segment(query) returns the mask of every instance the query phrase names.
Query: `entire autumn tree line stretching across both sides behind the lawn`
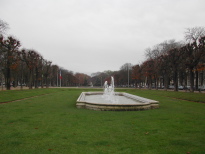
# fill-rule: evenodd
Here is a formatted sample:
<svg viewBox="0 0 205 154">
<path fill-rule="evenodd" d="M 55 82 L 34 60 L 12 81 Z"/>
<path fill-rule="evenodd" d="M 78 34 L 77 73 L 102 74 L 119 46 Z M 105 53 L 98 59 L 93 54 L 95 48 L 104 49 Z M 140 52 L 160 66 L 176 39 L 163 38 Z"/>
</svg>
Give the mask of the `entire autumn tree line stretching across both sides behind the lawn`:
<svg viewBox="0 0 205 154">
<path fill-rule="evenodd" d="M 116 87 L 189 88 L 205 85 L 205 28 L 188 28 L 184 42 L 168 40 L 145 50 L 146 60 L 141 64 L 125 63 L 118 71 L 96 72 L 91 76 L 73 73 L 53 65 L 34 49 L 20 49 L 21 42 L 5 37 L 8 24 L 0 20 L 0 83 L 11 86 L 103 86 L 114 76 Z"/>
</svg>

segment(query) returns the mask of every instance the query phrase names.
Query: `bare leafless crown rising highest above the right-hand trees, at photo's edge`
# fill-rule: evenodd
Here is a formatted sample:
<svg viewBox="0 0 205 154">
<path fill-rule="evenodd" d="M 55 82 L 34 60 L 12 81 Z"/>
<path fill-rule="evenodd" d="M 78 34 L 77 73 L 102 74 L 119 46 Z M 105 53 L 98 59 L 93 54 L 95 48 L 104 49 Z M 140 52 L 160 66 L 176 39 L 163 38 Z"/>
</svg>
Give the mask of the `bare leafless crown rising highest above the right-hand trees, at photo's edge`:
<svg viewBox="0 0 205 154">
<path fill-rule="evenodd" d="M 193 27 L 186 29 L 184 38 L 191 43 L 203 36 L 205 36 L 205 27 Z"/>
</svg>

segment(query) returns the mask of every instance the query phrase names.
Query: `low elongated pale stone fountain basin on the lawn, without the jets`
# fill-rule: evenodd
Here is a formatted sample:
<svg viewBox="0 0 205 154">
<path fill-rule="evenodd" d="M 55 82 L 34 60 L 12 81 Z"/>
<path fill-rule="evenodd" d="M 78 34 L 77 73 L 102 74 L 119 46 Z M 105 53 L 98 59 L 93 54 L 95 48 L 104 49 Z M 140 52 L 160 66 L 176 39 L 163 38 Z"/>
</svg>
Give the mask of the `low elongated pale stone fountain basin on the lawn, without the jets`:
<svg viewBox="0 0 205 154">
<path fill-rule="evenodd" d="M 115 102 L 103 98 L 103 92 L 82 92 L 76 107 L 98 111 L 138 111 L 159 108 L 159 102 L 136 95 L 115 92 Z"/>
</svg>

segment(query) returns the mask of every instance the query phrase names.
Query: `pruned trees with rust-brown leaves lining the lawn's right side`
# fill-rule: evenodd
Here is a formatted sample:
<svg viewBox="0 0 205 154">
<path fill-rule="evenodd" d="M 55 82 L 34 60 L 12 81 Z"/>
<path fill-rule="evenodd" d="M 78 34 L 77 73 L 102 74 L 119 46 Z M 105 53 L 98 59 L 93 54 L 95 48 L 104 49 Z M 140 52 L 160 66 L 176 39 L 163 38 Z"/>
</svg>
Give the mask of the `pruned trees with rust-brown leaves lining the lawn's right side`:
<svg viewBox="0 0 205 154">
<path fill-rule="evenodd" d="M 199 83 L 204 84 L 205 37 L 186 45 L 164 42 L 147 50 L 147 56 L 149 58 L 141 65 L 133 67 L 132 77 L 139 87 L 147 83 L 149 88 L 163 86 L 168 89 L 173 83 L 175 91 L 178 91 L 180 84 L 190 86 L 193 92 L 198 90 Z"/>
</svg>

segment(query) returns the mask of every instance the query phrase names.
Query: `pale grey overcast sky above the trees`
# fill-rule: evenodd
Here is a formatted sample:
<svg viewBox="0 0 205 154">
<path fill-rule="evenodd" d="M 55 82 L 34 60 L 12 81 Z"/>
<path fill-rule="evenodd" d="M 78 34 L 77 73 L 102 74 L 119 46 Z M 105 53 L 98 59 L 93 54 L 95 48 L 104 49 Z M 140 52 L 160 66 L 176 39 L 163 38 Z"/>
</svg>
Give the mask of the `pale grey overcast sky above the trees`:
<svg viewBox="0 0 205 154">
<path fill-rule="evenodd" d="M 140 64 L 148 47 L 205 26 L 205 0 L 0 0 L 0 19 L 22 47 L 91 74 Z"/>
</svg>

